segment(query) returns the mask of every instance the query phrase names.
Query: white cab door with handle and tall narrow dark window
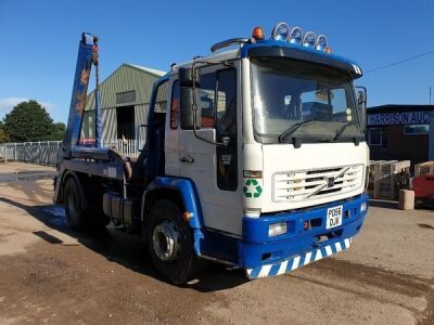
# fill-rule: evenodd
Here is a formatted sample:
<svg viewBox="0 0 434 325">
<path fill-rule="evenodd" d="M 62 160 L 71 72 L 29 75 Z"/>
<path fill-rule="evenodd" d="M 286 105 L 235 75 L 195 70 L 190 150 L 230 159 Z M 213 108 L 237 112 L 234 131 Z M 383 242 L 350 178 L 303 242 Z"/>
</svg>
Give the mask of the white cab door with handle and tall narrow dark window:
<svg viewBox="0 0 434 325">
<path fill-rule="evenodd" d="M 194 182 L 206 227 L 241 235 L 239 64 L 205 67 L 200 73 L 201 127 L 197 133 L 227 145 L 209 144 L 197 139 L 192 130 L 181 128 L 180 176 Z"/>
</svg>

